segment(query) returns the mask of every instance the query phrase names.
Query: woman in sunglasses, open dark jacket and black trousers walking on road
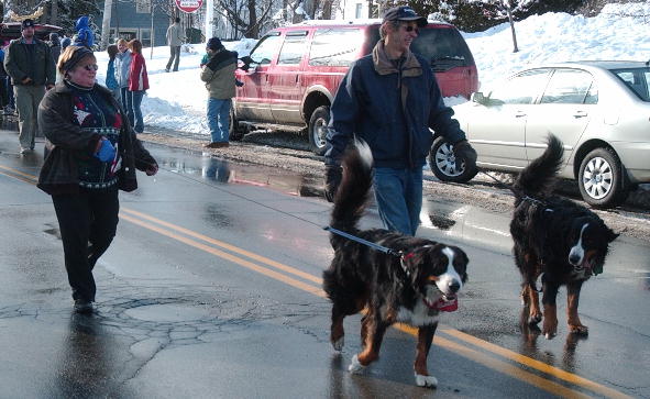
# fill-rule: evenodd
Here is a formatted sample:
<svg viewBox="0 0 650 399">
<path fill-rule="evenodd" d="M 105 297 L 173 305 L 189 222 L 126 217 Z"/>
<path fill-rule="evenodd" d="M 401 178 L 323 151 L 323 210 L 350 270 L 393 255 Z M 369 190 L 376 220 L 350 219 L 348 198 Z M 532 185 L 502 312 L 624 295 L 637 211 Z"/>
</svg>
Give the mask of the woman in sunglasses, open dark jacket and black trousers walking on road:
<svg viewBox="0 0 650 399">
<path fill-rule="evenodd" d="M 68 46 L 58 69 L 64 81 L 38 108 L 41 131 L 52 149 L 37 186 L 52 196 L 74 309 L 90 313 L 97 291 L 92 268 L 118 226 L 118 189 L 136 189 L 135 169 L 153 176 L 158 166 L 118 101 L 96 82 L 98 66 L 90 49 Z"/>
</svg>

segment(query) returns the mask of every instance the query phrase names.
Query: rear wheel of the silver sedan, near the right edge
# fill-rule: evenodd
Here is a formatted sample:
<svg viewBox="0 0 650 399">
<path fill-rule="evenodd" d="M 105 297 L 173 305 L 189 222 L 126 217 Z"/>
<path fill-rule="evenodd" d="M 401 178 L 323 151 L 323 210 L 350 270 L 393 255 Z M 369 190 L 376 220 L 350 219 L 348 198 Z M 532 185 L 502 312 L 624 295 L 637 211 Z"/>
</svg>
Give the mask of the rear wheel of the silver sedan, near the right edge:
<svg viewBox="0 0 650 399">
<path fill-rule="evenodd" d="M 625 202 L 629 193 L 626 173 L 610 148 L 596 148 L 580 164 L 577 186 L 584 201 L 596 208 L 610 208 Z"/>
</svg>

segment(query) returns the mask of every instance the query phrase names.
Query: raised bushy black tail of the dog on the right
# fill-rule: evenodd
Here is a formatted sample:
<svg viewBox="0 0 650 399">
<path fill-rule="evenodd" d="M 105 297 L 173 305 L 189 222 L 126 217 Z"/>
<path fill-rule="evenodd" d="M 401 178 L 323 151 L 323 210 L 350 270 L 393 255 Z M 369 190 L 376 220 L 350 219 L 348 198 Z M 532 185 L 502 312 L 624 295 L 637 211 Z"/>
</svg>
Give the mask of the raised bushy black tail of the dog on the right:
<svg viewBox="0 0 650 399">
<path fill-rule="evenodd" d="M 517 198 L 524 196 L 543 196 L 552 189 L 555 175 L 562 167 L 564 147 L 560 138 L 549 134 L 548 146 L 544 153 L 530 163 L 521 173 L 515 184 L 513 191 Z"/>
</svg>

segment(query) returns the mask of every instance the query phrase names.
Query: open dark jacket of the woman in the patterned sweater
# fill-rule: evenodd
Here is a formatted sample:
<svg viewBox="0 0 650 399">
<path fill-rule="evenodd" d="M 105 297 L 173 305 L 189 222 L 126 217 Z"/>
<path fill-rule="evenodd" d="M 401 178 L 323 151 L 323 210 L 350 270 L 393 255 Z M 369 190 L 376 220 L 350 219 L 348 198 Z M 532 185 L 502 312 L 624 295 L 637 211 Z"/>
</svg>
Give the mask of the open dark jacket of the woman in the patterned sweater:
<svg viewBox="0 0 650 399">
<path fill-rule="evenodd" d="M 137 188 L 135 169 L 146 170 L 156 165 L 156 160 L 136 138 L 129 118 L 111 92 L 97 84 L 95 90 L 101 92 L 122 117 L 119 147 L 122 165 L 118 171 L 118 187 L 133 191 Z M 38 107 L 38 128 L 47 138 L 51 151 L 41 168 L 37 187 L 49 195 L 79 191 L 79 155 L 92 155 L 101 138 L 100 134 L 73 123 L 73 91 L 63 82 L 49 90 Z"/>
</svg>

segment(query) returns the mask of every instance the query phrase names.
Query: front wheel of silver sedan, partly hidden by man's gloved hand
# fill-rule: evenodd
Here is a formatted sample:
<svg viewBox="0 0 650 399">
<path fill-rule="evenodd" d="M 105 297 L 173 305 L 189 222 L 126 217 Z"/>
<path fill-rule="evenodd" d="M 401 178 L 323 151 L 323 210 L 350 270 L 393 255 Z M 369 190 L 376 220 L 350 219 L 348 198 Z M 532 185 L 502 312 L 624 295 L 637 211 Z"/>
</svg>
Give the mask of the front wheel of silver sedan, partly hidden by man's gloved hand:
<svg viewBox="0 0 650 399">
<path fill-rule="evenodd" d="M 441 181 L 467 182 L 472 180 L 478 170 L 467 168 L 464 159 L 460 163 L 453 154 L 453 145 L 449 144 L 444 137 L 437 137 L 429 152 L 429 167 L 433 175 Z"/>
</svg>

